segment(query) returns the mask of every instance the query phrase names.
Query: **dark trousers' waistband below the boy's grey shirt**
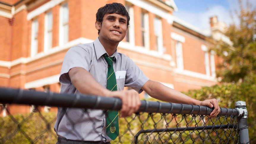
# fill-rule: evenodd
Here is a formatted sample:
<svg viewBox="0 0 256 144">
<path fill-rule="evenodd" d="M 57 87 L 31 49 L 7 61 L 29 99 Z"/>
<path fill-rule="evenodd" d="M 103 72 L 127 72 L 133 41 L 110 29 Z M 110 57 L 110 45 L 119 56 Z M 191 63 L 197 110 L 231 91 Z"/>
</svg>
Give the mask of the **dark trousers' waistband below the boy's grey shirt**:
<svg viewBox="0 0 256 144">
<path fill-rule="evenodd" d="M 65 138 L 58 137 L 58 142 L 56 144 L 111 144 L 110 142 L 104 143 L 103 141 L 78 141 L 78 140 L 67 140 Z"/>
</svg>

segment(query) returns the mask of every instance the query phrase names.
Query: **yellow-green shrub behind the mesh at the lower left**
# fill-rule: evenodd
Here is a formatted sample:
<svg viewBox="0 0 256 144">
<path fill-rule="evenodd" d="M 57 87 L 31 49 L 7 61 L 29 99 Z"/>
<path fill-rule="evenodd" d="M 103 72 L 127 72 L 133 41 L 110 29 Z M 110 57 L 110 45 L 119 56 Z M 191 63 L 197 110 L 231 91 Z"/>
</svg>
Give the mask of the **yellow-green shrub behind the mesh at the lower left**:
<svg viewBox="0 0 256 144">
<path fill-rule="evenodd" d="M 56 113 L 9 115 L 0 118 L 0 143 L 56 143 Z"/>
</svg>

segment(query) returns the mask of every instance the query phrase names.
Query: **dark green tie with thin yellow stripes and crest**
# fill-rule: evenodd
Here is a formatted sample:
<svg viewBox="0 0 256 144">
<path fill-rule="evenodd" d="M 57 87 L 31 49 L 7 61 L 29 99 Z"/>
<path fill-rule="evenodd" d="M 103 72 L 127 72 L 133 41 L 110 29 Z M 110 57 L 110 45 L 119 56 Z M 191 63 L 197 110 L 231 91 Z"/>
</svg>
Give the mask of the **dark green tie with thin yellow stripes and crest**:
<svg viewBox="0 0 256 144">
<path fill-rule="evenodd" d="M 105 56 L 108 62 L 108 77 L 107 77 L 107 88 L 110 91 L 116 91 L 116 75 L 113 69 L 113 58 Z M 107 113 L 107 135 L 112 140 L 115 140 L 119 134 L 118 126 L 118 111 L 108 110 Z"/>
</svg>

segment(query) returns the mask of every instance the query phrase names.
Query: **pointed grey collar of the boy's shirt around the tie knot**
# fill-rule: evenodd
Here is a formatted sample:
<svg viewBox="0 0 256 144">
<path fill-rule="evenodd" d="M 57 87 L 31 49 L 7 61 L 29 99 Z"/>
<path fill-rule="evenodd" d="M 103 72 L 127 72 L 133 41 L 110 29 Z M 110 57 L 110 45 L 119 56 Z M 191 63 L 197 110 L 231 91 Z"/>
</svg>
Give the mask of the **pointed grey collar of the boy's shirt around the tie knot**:
<svg viewBox="0 0 256 144">
<path fill-rule="evenodd" d="M 97 60 L 102 56 L 104 55 L 106 52 L 105 48 L 103 47 L 103 45 L 99 42 L 99 37 L 97 37 L 97 39 L 93 42 L 93 45 L 94 45 L 94 50 L 95 50 L 95 53 L 96 53 L 96 57 L 97 57 Z M 108 53 L 107 53 L 108 54 Z M 112 56 L 110 57 L 113 57 L 115 56 L 116 58 L 116 55 L 117 55 L 117 51 L 115 51 L 115 53 L 113 53 Z"/>
</svg>

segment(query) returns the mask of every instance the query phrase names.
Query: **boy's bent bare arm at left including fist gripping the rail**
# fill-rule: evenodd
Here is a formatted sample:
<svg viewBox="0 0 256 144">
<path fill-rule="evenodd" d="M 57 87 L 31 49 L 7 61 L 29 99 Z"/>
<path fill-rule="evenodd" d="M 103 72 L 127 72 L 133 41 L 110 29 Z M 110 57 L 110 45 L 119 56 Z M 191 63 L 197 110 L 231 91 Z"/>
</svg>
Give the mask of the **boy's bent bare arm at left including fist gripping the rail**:
<svg viewBox="0 0 256 144">
<path fill-rule="evenodd" d="M 120 98 L 122 100 L 122 108 L 120 110 L 122 117 L 137 112 L 141 105 L 137 91 L 110 91 L 101 86 L 94 77 L 83 68 L 75 67 L 70 69 L 69 77 L 71 83 L 82 94 Z"/>
</svg>

